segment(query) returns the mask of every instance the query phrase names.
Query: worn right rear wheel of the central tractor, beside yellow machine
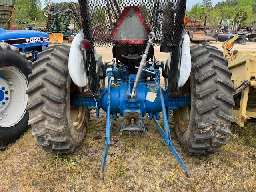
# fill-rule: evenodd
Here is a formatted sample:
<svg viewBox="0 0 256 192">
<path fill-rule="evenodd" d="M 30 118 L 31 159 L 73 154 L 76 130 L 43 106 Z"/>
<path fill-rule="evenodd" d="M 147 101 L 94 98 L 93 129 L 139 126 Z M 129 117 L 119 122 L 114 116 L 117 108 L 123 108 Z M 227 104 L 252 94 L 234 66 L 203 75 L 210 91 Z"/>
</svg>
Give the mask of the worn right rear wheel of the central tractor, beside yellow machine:
<svg viewBox="0 0 256 192">
<path fill-rule="evenodd" d="M 178 140 L 190 154 L 212 154 L 221 150 L 230 134 L 234 86 L 232 72 L 223 53 L 215 47 L 190 47 L 192 72 L 181 88 L 191 94 L 191 107 L 174 111 Z"/>
</svg>

